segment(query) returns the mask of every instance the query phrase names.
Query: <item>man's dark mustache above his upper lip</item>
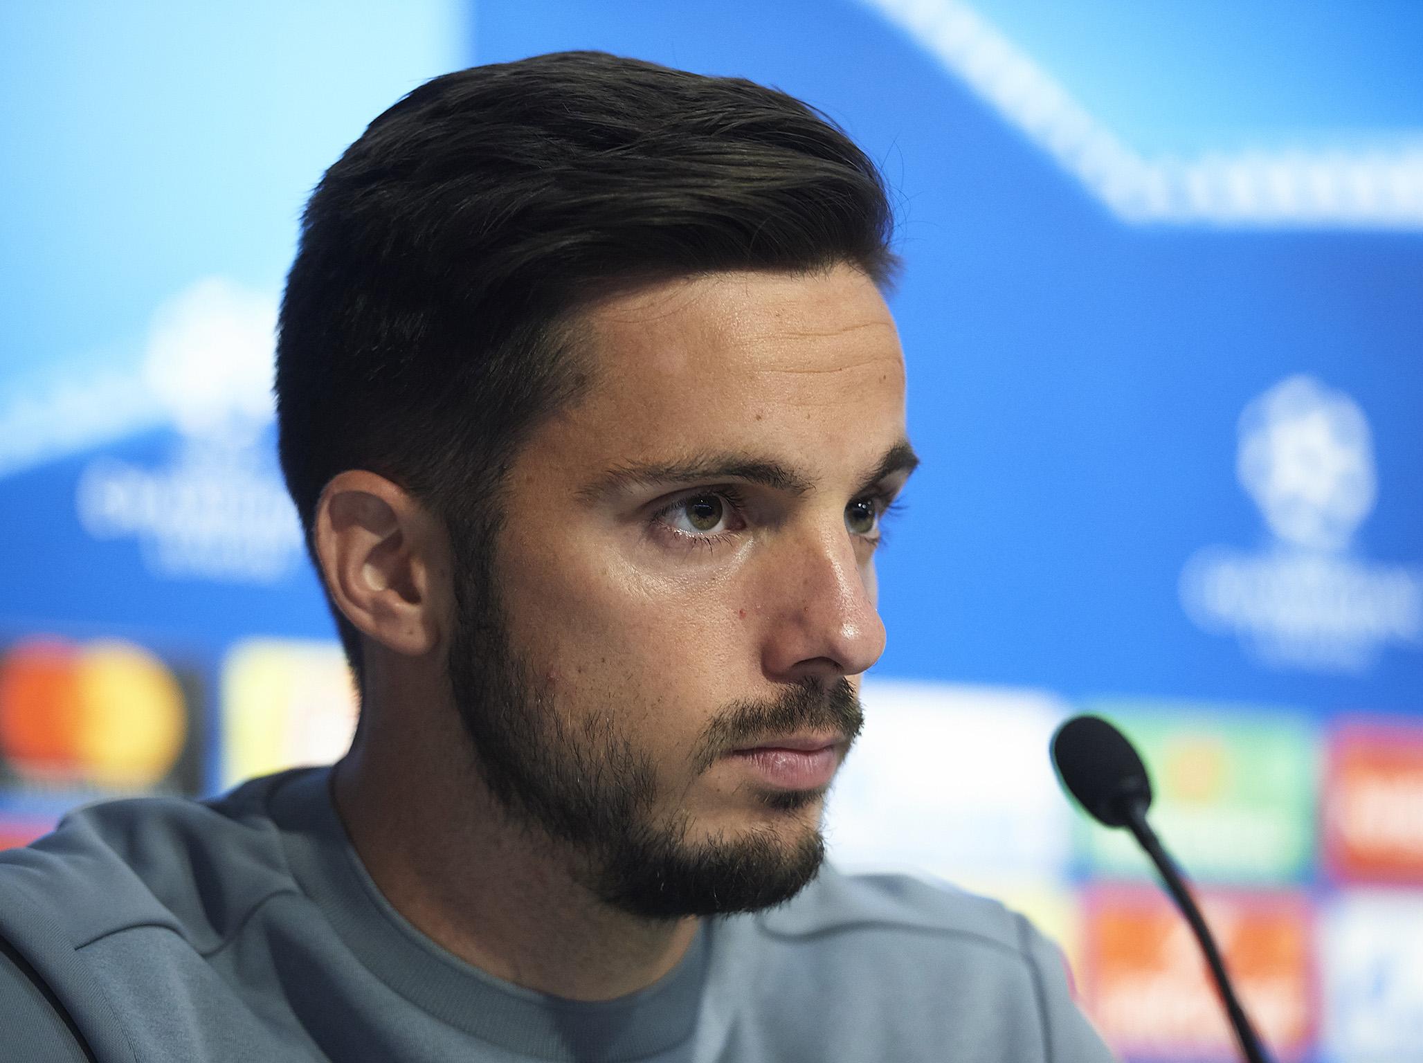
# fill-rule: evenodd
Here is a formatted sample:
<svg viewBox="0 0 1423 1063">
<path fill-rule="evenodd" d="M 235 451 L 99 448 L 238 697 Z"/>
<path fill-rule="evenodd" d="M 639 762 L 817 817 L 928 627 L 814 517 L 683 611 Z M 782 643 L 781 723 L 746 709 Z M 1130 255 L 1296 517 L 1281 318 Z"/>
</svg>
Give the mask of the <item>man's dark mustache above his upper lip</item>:
<svg viewBox="0 0 1423 1063">
<path fill-rule="evenodd" d="M 834 731 L 854 744 L 865 726 L 859 696 L 841 676 L 825 684 L 807 679 L 776 699 L 731 702 L 707 724 L 696 756 L 697 771 L 733 750 L 790 731 Z"/>
</svg>

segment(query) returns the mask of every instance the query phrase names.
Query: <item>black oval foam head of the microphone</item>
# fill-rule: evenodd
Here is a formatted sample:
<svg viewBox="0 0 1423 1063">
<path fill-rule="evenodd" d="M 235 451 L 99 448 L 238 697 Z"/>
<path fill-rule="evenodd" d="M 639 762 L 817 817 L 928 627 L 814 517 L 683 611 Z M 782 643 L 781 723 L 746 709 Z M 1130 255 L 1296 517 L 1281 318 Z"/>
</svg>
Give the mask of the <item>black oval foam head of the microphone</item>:
<svg viewBox="0 0 1423 1063">
<path fill-rule="evenodd" d="M 1104 827 L 1126 827 L 1130 810 L 1151 805 L 1151 780 L 1127 737 L 1100 716 L 1074 716 L 1053 736 L 1057 777 Z"/>
</svg>

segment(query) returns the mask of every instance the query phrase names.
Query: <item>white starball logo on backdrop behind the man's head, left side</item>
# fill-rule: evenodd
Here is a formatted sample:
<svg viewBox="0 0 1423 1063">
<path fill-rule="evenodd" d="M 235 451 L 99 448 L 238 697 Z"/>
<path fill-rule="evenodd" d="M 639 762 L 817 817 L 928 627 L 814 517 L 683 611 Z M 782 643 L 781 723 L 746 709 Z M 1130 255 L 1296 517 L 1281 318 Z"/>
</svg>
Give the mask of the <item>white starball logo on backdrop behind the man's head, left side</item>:
<svg viewBox="0 0 1423 1063">
<path fill-rule="evenodd" d="M 149 465 L 102 455 L 75 507 L 95 539 L 137 539 L 158 578 L 270 583 L 302 556 L 302 529 L 272 457 L 276 303 L 221 277 L 154 314 L 144 388 L 179 433 Z"/>
</svg>

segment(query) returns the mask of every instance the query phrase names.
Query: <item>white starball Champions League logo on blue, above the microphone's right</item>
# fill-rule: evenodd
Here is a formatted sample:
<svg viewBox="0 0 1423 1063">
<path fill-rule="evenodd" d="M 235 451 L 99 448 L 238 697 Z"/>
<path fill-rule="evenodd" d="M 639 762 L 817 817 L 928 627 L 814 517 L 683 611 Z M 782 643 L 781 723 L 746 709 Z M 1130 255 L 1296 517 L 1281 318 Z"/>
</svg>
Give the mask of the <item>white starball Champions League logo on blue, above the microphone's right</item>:
<svg viewBox="0 0 1423 1063">
<path fill-rule="evenodd" d="M 1369 423 L 1342 391 L 1282 380 L 1245 407 L 1237 475 L 1272 542 L 1208 546 L 1181 573 L 1181 602 L 1272 667 L 1368 670 L 1390 645 L 1423 643 L 1423 573 L 1356 556 L 1377 475 Z"/>
</svg>

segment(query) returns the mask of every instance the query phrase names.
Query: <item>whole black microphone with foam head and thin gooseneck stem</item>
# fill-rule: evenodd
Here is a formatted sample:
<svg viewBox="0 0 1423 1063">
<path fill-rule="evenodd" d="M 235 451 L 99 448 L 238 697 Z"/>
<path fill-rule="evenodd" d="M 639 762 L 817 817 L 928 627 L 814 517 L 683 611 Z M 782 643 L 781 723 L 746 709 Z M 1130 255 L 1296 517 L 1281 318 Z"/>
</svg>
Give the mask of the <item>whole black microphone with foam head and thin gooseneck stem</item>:
<svg viewBox="0 0 1423 1063">
<path fill-rule="evenodd" d="M 1077 798 L 1077 804 L 1104 827 L 1126 827 L 1151 857 L 1167 892 L 1201 943 L 1201 952 L 1205 953 L 1205 962 L 1215 978 L 1215 988 L 1235 1029 L 1241 1052 L 1245 1053 L 1248 1063 L 1269 1063 L 1245 1009 L 1235 999 L 1220 949 L 1215 948 L 1215 939 L 1201 918 L 1201 909 L 1197 908 L 1185 878 L 1147 823 L 1151 780 L 1136 749 L 1121 731 L 1101 717 L 1074 716 L 1057 729 L 1052 751 L 1057 778 Z"/>
</svg>

